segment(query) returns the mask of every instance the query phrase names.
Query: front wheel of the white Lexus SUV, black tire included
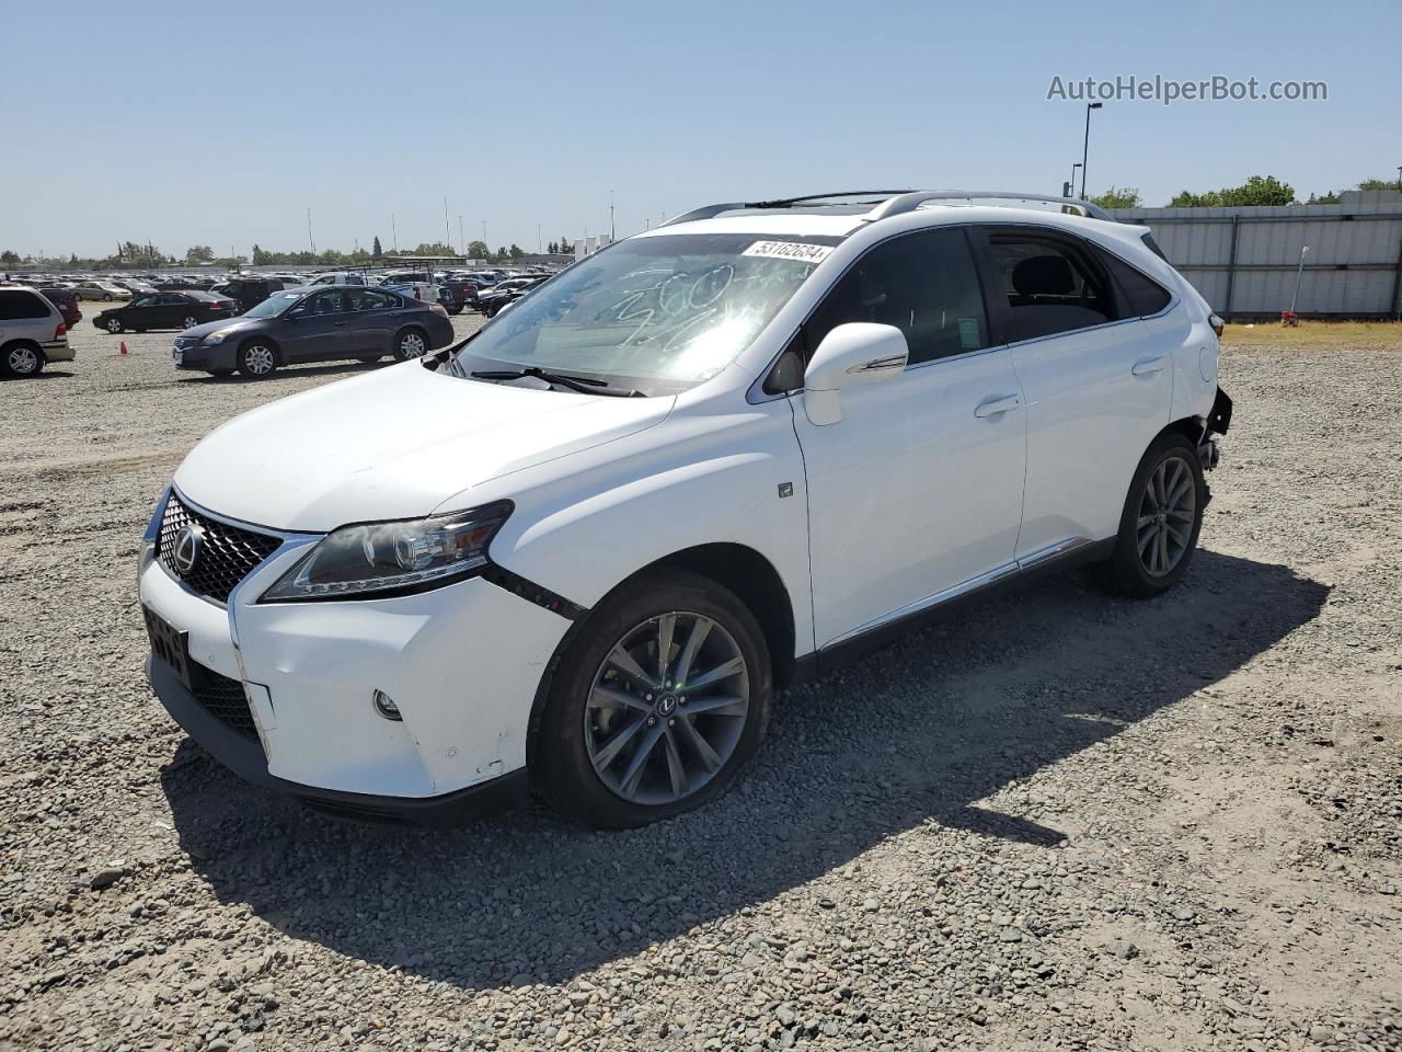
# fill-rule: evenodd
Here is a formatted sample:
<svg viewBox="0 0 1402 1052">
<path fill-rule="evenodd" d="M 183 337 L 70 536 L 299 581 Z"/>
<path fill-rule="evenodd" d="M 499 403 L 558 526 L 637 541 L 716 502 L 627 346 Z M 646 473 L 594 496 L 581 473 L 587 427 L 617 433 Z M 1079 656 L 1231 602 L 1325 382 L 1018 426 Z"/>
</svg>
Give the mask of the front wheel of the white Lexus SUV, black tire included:
<svg viewBox="0 0 1402 1052">
<path fill-rule="evenodd" d="M 663 637 L 667 675 L 656 663 Z M 690 686 L 677 689 L 670 676 L 686 679 L 688 662 Z M 754 756 L 771 693 L 768 647 L 744 603 L 697 574 L 645 574 L 594 607 L 561 659 L 533 774 L 559 814 L 589 826 L 631 829 L 693 811 Z"/>
</svg>

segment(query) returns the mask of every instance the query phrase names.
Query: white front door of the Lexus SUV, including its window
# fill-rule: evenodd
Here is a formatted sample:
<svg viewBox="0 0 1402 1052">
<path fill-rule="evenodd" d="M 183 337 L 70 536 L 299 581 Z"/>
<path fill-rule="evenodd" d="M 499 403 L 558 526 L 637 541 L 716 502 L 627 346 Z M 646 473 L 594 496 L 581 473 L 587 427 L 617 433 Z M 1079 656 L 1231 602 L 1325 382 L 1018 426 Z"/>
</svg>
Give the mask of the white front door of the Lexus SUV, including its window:
<svg viewBox="0 0 1402 1052">
<path fill-rule="evenodd" d="M 990 346 L 962 229 L 872 248 L 809 320 L 808 352 L 847 321 L 896 325 L 910 360 L 844 390 L 837 424 L 795 407 L 819 648 L 1007 572 L 1028 454 L 1011 351 Z"/>
</svg>

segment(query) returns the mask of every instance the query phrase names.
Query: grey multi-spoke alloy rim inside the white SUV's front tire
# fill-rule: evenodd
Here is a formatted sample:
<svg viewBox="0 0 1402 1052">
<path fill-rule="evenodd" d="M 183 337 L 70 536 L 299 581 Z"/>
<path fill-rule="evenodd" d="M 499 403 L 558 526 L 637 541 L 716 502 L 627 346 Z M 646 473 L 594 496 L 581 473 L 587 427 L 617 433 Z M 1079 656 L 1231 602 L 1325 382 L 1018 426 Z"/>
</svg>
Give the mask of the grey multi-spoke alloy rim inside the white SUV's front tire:
<svg viewBox="0 0 1402 1052">
<path fill-rule="evenodd" d="M 585 704 L 599 780 L 642 805 L 698 793 L 733 756 L 750 711 L 735 637 L 697 613 L 651 617 L 614 644 Z"/>
</svg>

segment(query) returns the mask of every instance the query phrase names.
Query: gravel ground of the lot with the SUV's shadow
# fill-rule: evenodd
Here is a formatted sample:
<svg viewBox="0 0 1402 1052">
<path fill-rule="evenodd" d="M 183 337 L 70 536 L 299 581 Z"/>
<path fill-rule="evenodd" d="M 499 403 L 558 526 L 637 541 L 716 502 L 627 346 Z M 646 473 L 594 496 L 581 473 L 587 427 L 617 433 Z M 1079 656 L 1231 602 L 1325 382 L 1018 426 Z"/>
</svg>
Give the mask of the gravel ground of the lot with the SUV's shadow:
<svg viewBox="0 0 1402 1052">
<path fill-rule="evenodd" d="M 240 783 L 140 672 L 181 456 L 363 366 L 177 376 L 84 321 L 0 383 L 0 1046 L 1402 1048 L 1402 332 L 1291 339 L 1231 341 L 1171 596 L 965 607 L 679 821 L 433 835 Z"/>
</svg>

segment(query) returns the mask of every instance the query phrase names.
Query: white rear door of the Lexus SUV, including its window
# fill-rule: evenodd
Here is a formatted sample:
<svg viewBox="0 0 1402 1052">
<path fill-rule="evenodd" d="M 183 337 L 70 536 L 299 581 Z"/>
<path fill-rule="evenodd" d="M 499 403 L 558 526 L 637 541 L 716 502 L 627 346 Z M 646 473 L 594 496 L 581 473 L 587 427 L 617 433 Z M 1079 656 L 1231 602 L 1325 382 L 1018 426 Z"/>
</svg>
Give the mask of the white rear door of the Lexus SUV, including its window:
<svg viewBox="0 0 1402 1052">
<path fill-rule="evenodd" d="M 1134 468 L 1169 421 L 1171 348 L 1087 240 L 1030 224 L 977 233 L 1028 400 L 1018 558 L 1112 537 Z"/>
</svg>

